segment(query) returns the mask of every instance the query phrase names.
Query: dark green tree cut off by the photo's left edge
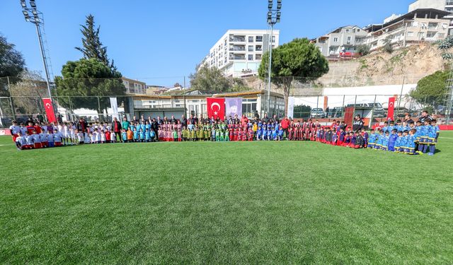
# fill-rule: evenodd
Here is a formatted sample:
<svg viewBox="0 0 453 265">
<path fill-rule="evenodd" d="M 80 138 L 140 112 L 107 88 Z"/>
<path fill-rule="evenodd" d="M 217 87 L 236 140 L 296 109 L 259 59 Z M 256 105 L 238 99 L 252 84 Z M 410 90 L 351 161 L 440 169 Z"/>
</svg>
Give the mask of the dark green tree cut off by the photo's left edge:
<svg viewBox="0 0 453 265">
<path fill-rule="evenodd" d="M 25 70 L 25 60 L 21 52 L 18 52 L 15 45 L 9 43 L 6 37 L 0 34 L 0 77 L 20 76 Z"/>
</svg>

